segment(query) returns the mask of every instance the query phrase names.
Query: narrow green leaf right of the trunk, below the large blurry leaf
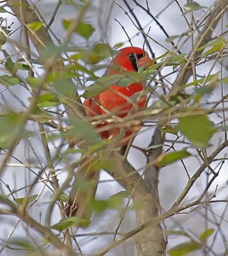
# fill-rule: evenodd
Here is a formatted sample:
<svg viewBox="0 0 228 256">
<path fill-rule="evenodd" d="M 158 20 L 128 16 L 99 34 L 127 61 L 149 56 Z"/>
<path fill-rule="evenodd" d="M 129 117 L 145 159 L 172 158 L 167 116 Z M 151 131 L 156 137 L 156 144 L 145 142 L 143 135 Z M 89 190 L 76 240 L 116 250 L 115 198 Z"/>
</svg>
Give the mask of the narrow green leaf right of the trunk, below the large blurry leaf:
<svg viewBox="0 0 228 256">
<path fill-rule="evenodd" d="M 183 159 L 188 156 L 191 156 L 191 154 L 188 153 L 186 149 L 167 153 L 167 154 L 161 154 L 160 156 L 157 157 L 156 164 L 158 166 L 163 166 L 163 165 L 174 163 L 179 159 Z"/>
</svg>

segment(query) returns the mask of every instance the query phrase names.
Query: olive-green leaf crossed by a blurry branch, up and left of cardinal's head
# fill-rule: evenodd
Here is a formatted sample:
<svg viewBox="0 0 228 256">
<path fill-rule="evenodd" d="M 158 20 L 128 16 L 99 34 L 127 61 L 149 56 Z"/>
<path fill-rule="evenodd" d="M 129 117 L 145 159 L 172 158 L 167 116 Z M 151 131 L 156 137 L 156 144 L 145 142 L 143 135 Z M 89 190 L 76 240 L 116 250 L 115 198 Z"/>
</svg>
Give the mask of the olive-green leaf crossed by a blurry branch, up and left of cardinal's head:
<svg viewBox="0 0 228 256">
<path fill-rule="evenodd" d="M 72 24 L 72 20 L 70 19 L 63 20 L 63 27 L 65 29 L 70 28 L 71 24 Z M 86 39 L 89 39 L 89 37 L 93 35 L 94 31 L 95 31 L 95 28 L 93 28 L 91 24 L 88 24 L 86 22 L 80 22 L 74 32 Z"/>
</svg>

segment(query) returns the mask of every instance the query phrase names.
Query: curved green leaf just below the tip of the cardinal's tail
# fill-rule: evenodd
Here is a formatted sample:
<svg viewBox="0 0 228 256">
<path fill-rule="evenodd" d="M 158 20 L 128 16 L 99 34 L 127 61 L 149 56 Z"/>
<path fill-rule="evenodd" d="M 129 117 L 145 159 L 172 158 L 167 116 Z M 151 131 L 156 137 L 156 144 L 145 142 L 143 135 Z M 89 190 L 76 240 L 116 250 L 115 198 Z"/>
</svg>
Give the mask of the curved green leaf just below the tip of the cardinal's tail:
<svg viewBox="0 0 228 256">
<path fill-rule="evenodd" d="M 52 225 L 50 228 L 62 231 L 62 230 L 66 230 L 66 228 L 70 228 L 73 226 L 80 226 L 80 227 L 87 226 L 89 225 L 89 223 L 90 221 L 88 220 L 84 220 L 77 217 L 70 217 L 70 218 L 66 218 L 59 221 L 59 223 Z"/>
</svg>

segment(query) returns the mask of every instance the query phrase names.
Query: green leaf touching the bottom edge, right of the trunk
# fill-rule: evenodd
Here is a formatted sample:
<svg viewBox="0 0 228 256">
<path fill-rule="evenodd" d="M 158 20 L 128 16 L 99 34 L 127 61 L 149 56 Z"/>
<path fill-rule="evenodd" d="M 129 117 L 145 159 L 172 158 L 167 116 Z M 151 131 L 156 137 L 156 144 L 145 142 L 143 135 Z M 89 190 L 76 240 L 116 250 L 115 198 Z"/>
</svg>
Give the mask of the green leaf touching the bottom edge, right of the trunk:
<svg viewBox="0 0 228 256">
<path fill-rule="evenodd" d="M 196 243 L 194 241 L 190 241 L 188 243 L 182 243 L 182 244 L 178 244 L 178 246 L 174 246 L 173 248 L 171 248 L 171 250 L 169 250 L 169 255 L 183 256 L 199 249 L 201 249 L 201 244 Z"/>
</svg>

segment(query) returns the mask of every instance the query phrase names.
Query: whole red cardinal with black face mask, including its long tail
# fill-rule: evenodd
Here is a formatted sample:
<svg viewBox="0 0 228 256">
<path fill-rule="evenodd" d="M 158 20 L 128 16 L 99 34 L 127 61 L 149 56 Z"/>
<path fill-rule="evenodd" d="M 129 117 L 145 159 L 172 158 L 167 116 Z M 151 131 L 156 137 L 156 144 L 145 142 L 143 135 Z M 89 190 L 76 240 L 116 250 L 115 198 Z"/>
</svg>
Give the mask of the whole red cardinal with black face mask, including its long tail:
<svg viewBox="0 0 228 256">
<path fill-rule="evenodd" d="M 142 65 L 153 65 L 152 60 L 146 51 L 138 47 L 125 47 L 112 59 L 109 67 L 105 72 L 105 76 L 114 74 L 121 74 L 123 72 L 137 72 Z M 139 93 L 145 88 L 145 81 L 140 83 L 132 83 L 126 87 L 112 84 L 107 90 L 96 95 L 94 98 L 86 99 L 84 108 L 86 115 L 89 117 L 103 115 L 109 113 L 120 118 L 128 115 L 129 111 L 139 111 L 146 105 L 146 96 L 141 95 L 134 99 L 134 104 L 130 103 L 135 93 Z M 96 128 L 105 127 L 105 123 L 96 125 Z M 119 146 L 126 146 L 130 141 L 133 129 L 129 127 L 125 130 L 125 134 Z M 110 128 L 107 131 L 100 132 L 102 139 L 109 139 L 119 134 L 119 128 Z M 99 170 L 93 170 L 93 163 L 86 165 L 86 168 L 79 170 L 75 177 L 74 183 L 80 183 L 79 180 L 89 180 L 91 186 L 88 186 L 86 191 L 80 189 L 79 185 L 73 185 L 72 191 L 69 195 L 69 202 L 66 205 L 66 216 L 79 216 L 79 218 L 90 219 L 91 210 L 88 209 L 87 204 L 91 198 L 94 198 L 96 187 L 98 184 Z"/>
</svg>

